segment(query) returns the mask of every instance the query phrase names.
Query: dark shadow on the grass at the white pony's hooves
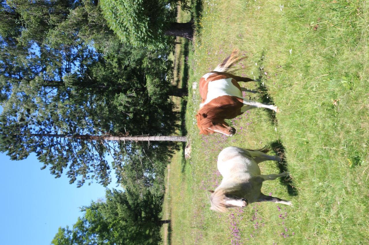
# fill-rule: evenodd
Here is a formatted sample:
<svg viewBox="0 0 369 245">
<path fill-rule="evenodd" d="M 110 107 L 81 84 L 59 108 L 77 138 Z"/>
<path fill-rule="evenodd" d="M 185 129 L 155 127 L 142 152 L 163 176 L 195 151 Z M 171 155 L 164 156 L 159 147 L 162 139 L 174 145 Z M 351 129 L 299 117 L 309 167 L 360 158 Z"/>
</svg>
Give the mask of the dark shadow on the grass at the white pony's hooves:
<svg viewBox="0 0 369 245">
<path fill-rule="evenodd" d="M 278 155 L 280 158 L 282 158 L 282 161 L 278 163 L 278 168 L 280 170 L 280 173 L 287 172 L 288 171 L 288 163 L 284 156 L 284 153 L 286 152 L 286 149 L 284 149 L 284 146 L 282 145 L 282 142 L 275 141 L 270 144 L 270 147 L 272 150 Z M 294 186 L 293 180 L 290 178 L 289 175 L 283 176 L 280 178 L 280 182 L 282 185 L 286 185 L 287 192 L 290 196 L 297 196 L 298 192 L 296 187 Z"/>
</svg>

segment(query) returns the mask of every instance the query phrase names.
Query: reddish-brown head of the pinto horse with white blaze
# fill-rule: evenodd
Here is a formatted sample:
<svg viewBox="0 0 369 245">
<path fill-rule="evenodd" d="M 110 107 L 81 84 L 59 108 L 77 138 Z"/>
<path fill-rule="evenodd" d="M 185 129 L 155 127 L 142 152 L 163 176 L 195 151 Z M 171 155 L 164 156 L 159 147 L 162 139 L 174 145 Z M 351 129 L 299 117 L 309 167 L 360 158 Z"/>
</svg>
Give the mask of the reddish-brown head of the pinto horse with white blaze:
<svg viewBox="0 0 369 245">
<path fill-rule="evenodd" d="M 236 133 L 236 129 L 230 127 L 223 118 L 214 117 L 207 113 L 198 113 L 196 114 L 196 119 L 200 134 L 208 135 L 217 132 L 232 136 Z"/>
</svg>

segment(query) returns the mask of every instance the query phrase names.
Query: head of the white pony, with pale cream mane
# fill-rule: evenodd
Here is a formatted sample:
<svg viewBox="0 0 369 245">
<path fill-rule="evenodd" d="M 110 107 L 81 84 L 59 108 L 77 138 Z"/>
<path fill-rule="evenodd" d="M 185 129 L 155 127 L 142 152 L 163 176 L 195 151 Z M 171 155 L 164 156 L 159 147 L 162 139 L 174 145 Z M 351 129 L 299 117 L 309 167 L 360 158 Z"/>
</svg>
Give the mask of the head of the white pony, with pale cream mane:
<svg viewBox="0 0 369 245">
<path fill-rule="evenodd" d="M 225 213 L 229 207 L 246 207 L 248 205 L 245 198 L 239 198 L 221 189 L 210 192 L 210 210 Z"/>
</svg>

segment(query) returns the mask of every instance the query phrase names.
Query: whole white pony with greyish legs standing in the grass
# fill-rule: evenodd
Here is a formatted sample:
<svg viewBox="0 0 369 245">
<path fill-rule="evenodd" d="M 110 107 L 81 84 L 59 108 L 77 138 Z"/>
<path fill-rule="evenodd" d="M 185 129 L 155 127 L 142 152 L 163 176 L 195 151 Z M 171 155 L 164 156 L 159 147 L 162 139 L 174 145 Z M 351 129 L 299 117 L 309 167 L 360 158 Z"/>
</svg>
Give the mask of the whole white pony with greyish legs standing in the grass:
<svg viewBox="0 0 369 245">
<path fill-rule="evenodd" d="M 211 210 L 226 212 L 228 207 L 246 207 L 253 202 L 265 201 L 291 205 L 289 201 L 261 193 L 263 181 L 289 175 L 288 172 L 268 175 L 260 173 L 258 163 L 267 160 L 280 161 L 278 156 L 266 155 L 268 150 L 230 146 L 219 153 L 218 170 L 223 180 L 215 191 L 210 191 Z"/>
</svg>

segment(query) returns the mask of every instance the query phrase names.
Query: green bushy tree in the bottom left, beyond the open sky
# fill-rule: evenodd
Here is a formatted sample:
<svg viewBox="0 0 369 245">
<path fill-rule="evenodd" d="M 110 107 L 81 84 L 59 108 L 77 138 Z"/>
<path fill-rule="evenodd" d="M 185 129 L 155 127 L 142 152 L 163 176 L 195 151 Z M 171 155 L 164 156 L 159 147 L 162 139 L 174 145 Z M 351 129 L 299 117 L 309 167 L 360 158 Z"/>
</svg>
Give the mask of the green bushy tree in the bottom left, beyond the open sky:
<svg viewBox="0 0 369 245">
<path fill-rule="evenodd" d="M 148 191 L 108 190 L 106 202 L 81 209 L 72 230 L 59 227 L 51 244 L 158 244 L 162 201 Z"/>
</svg>

